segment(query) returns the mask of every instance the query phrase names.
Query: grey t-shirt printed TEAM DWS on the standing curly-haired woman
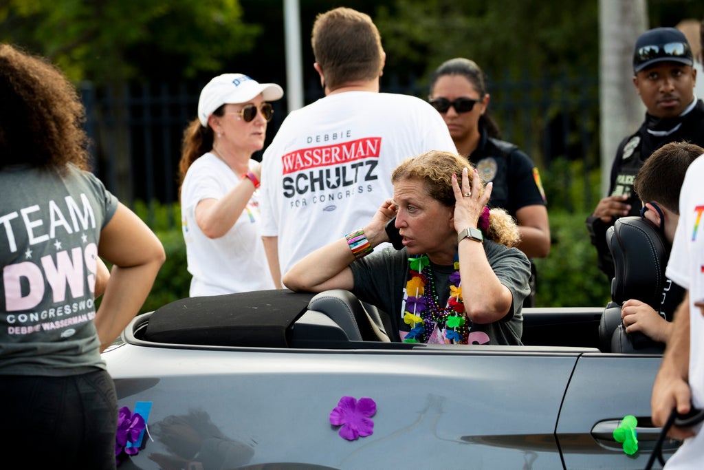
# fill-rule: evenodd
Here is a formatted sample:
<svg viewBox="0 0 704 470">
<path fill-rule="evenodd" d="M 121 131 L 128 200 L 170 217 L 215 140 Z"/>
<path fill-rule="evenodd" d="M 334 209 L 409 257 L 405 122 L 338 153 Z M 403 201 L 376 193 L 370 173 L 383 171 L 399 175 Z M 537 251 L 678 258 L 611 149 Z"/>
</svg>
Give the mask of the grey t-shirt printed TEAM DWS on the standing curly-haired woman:
<svg viewBox="0 0 704 470">
<path fill-rule="evenodd" d="M 91 173 L 0 171 L 0 375 L 105 369 L 95 317 L 102 228 L 118 200 Z"/>
</svg>

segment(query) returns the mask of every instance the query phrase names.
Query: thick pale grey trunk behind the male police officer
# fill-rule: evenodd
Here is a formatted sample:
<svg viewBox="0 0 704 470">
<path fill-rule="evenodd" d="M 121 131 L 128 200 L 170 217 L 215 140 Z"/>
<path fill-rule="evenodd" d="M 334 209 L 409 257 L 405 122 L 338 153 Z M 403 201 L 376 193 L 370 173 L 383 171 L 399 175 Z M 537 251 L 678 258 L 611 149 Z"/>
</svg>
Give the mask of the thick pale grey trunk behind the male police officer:
<svg viewBox="0 0 704 470">
<path fill-rule="evenodd" d="M 643 122 L 646 108 L 633 86 L 633 48 L 648 29 L 646 0 L 599 0 L 601 194 L 606 195 L 619 142 Z"/>
</svg>

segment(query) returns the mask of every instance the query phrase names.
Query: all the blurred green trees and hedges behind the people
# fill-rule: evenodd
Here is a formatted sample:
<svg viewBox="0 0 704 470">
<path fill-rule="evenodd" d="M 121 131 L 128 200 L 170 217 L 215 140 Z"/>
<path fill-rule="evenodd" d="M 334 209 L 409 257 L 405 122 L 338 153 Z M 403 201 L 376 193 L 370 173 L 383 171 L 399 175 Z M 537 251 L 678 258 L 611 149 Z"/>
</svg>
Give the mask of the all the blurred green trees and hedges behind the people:
<svg viewBox="0 0 704 470">
<path fill-rule="evenodd" d="M 650 27 L 704 18 L 701 0 L 646 3 Z M 586 87 L 580 83 L 595 83 L 598 87 L 598 1 L 301 0 L 303 83 L 317 90 L 319 96 L 310 29 L 318 13 L 336 6 L 364 11 L 379 27 L 386 51 L 382 89 L 410 86 L 408 93 L 425 97 L 429 73 L 455 56 L 479 63 L 489 75 L 490 92 L 492 82 L 513 86 L 513 92 L 500 93 L 496 89 L 492 102 L 501 107 L 495 116 L 502 130 L 533 125 L 539 128 L 534 132 L 508 133 L 509 140 L 529 150 L 541 170 L 553 235 L 550 256 L 535 260 L 536 304 L 605 305 L 609 283 L 596 268 L 596 252 L 584 227 L 584 218 L 601 196 L 598 101 L 589 101 L 584 109 L 572 109 L 569 116 L 561 115 L 556 106 L 551 107 L 562 99 L 555 96 L 560 90 L 562 94 L 576 95 Z M 80 89 L 99 90 L 96 95 L 119 97 L 124 87 L 160 84 L 194 89 L 197 99 L 200 87 L 213 75 L 224 72 L 247 73 L 260 82 L 277 82 L 284 89 L 287 85 L 283 0 L 4 0 L 0 1 L 0 25 L 0 41 L 48 57 Z M 577 91 L 561 85 L 565 77 L 572 76 L 582 80 L 577 82 Z M 537 85 L 529 92 L 512 85 L 520 82 Z M 555 83 L 560 85 L 555 88 Z M 547 94 L 541 94 L 541 88 Z M 596 94 L 598 89 L 591 92 L 591 96 Z M 315 98 L 315 94 L 308 93 L 306 103 Z M 518 107 L 529 99 L 545 101 L 543 114 L 514 120 Z M 638 99 L 635 93 L 633 99 Z M 284 100 L 278 105 L 282 107 L 277 109 L 277 118 L 287 113 Z M 184 116 L 175 121 L 177 130 L 195 117 L 193 98 L 189 106 Z M 541 120 L 539 125 L 537 120 Z M 577 126 L 572 126 L 576 131 L 563 137 L 570 145 L 582 147 L 581 158 L 569 158 L 567 148 L 548 154 L 545 142 L 539 142 L 546 138 L 542 130 L 560 120 L 578 121 Z M 276 128 L 270 126 L 268 142 Z M 588 146 L 585 136 L 593 140 Z M 171 169 L 161 174 L 163 180 L 170 182 L 175 180 L 173 163 L 179 156 L 178 137 L 168 150 Z M 157 175 L 165 168 L 162 163 L 145 160 L 141 154 L 130 156 L 130 147 L 120 147 L 111 140 L 98 147 L 98 163 L 101 159 L 111 163 L 124 160 L 125 165 L 133 166 L 138 160 Z M 142 185 L 142 180 L 132 176 L 131 169 L 116 175 L 113 178 L 121 183 L 134 180 L 128 183 Z M 108 188 L 113 190 L 109 185 Z M 177 202 L 168 197 L 145 199 L 139 191 L 121 191 L 114 190 L 149 223 L 168 256 L 143 311 L 186 297 L 190 275 Z"/>
</svg>

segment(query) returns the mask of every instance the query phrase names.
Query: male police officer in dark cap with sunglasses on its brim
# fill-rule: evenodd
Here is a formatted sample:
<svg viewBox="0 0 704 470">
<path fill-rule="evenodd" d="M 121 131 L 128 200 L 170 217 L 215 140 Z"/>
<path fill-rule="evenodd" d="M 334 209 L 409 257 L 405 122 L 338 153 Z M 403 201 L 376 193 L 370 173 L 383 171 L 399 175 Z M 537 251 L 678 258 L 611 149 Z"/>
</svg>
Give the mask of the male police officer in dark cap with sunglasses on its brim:
<svg viewBox="0 0 704 470">
<path fill-rule="evenodd" d="M 633 72 L 633 84 L 646 105 L 646 120 L 620 143 L 611 168 L 609 195 L 586 218 L 598 266 L 609 280 L 614 265 L 606 230 L 617 218 L 637 216 L 641 211 L 633 181 L 643 162 L 669 142 L 685 140 L 704 146 L 704 102 L 694 95 L 697 71 L 684 34 L 674 27 L 644 32 L 636 41 Z"/>
</svg>

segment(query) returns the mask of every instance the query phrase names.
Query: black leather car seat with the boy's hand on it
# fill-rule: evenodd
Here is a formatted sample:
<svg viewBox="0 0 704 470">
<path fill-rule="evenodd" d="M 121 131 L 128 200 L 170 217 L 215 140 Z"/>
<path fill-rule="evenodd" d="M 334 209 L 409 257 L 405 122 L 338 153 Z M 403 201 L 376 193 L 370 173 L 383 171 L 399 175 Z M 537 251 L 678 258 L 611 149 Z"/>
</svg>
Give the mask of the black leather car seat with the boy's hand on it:
<svg viewBox="0 0 704 470">
<path fill-rule="evenodd" d="M 642 333 L 627 334 L 621 321 L 621 306 L 638 299 L 659 311 L 662 290 L 667 283 L 665 268 L 670 245 L 658 227 L 641 216 L 619 218 L 606 232 L 606 242 L 614 259 L 611 302 L 599 325 L 603 352 L 657 353 L 664 345 Z"/>
</svg>

